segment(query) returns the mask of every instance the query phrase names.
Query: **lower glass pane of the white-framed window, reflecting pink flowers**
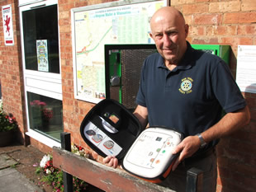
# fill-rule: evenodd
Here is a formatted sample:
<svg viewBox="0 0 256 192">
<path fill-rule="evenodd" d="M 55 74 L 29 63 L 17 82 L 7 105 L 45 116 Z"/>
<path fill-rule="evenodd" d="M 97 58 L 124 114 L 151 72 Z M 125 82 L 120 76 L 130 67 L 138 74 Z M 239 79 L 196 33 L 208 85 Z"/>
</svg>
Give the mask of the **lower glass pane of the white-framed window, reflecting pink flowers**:
<svg viewBox="0 0 256 192">
<path fill-rule="evenodd" d="M 27 92 L 30 128 L 60 141 L 63 132 L 62 101 Z"/>
</svg>

